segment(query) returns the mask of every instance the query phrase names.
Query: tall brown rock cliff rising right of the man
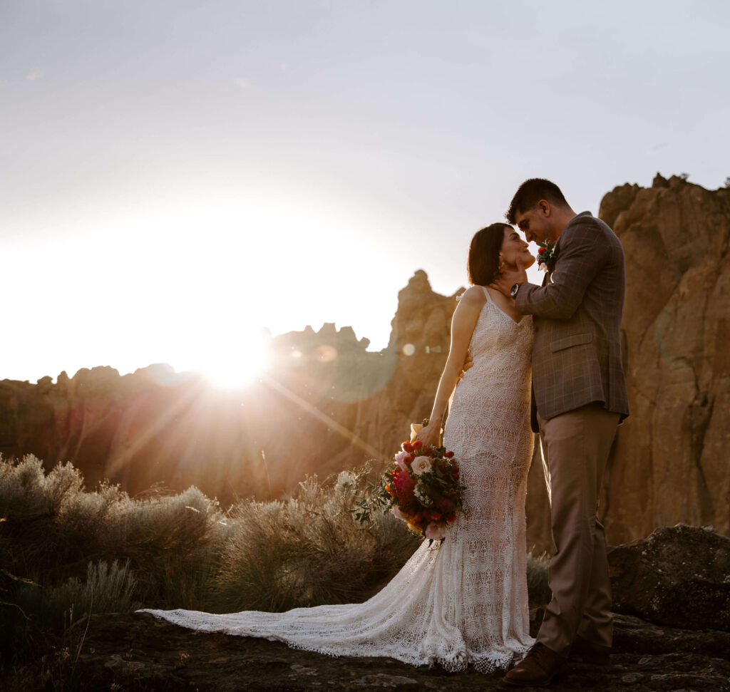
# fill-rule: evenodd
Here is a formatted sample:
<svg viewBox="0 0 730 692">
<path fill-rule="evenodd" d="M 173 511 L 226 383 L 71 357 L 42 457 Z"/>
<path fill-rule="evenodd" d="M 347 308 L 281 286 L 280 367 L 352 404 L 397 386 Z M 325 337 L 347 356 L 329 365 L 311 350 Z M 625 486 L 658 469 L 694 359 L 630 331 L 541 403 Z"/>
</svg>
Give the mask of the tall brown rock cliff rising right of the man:
<svg viewBox="0 0 730 692">
<path fill-rule="evenodd" d="M 730 189 L 657 175 L 608 193 L 626 253 L 631 416 L 604 507 L 614 543 L 678 521 L 730 533 Z"/>
</svg>

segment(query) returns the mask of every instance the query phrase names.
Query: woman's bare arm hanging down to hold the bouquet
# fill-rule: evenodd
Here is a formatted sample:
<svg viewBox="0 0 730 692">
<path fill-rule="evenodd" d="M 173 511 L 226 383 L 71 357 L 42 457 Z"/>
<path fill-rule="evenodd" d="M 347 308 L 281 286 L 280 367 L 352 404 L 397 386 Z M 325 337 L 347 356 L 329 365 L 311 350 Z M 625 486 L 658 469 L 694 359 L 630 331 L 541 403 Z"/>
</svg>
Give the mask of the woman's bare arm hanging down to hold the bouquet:
<svg viewBox="0 0 730 692">
<path fill-rule="evenodd" d="M 439 380 L 434 407 L 431 409 L 431 415 L 429 416 L 429 425 L 423 428 L 417 436 L 417 439 L 420 439 L 426 447 L 439 445 L 441 419 L 444 417 L 451 393 L 454 391 L 458 376 L 464 367 L 466 350 L 469 349 L 472 332 L 485 301 L 486 298 L 482 287 L 472 286 L 461 296 L 461 300 L 458 302 L 456 310 L 454 310 L 451 319 L 451 346 L 444 372 L 442 372 Z"/>
</svg>

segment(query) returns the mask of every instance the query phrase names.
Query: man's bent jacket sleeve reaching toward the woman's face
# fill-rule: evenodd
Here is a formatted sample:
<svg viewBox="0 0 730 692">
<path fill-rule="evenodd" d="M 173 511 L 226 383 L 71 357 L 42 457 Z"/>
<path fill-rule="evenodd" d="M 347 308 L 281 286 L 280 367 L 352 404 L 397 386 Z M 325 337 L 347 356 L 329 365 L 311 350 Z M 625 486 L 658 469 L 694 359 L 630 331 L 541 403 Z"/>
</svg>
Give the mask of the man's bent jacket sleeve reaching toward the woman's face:
<svg viewBox="0 0 730 692">
<path fill-rule="evenodd" d="M 566 228 L 550 281 L 544 286 L 520 286 L 515 308 L 523 315 L 568 320 L 583 301 L 585 289 L 607 262 L 610 247 L 600 228 L 591 223 Z"/>
</svg>

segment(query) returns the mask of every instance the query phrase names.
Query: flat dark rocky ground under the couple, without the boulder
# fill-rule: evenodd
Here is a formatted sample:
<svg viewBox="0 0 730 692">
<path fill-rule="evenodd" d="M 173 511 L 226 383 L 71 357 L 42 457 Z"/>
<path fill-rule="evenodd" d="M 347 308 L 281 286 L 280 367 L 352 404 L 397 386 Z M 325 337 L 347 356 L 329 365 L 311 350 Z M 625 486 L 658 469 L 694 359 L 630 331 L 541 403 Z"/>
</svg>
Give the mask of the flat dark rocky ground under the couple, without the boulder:
<svg viewBox="0 0 730 692">
<path fill-rule="evenodd" d="M 537 618 L 533 612 L 533 626 Z M 413 668 L 391 658 L 331 658 L 264 639 L 202 634 L 152 615 L 94 615 L 74 687 L 99 690 L 500 690 L 501 675 Z M 572 662 L 551 690 L 730 691 L 730 632 L 616 615 L 609 666 Z"/>
</svg>

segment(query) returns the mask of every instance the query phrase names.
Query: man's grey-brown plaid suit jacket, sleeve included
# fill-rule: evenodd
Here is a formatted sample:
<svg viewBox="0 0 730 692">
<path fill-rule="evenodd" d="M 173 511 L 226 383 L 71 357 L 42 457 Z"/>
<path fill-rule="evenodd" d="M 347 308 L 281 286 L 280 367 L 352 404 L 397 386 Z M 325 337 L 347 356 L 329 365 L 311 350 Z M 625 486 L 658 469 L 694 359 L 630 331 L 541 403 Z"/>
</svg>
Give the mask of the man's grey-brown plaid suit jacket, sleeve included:
<svg viewBox="0 0 730 692">
<path fill-rule="evenodd" d="M 542 418 L 591 401 L 629 415 L 621 364 L 625 275 L 618 237 L 590 212 L 561 233 L 553 272 L 542 286 L 520 286 L 518 312 L 534 315 L 534 404 Z M 534 425 L 533 411 L 533 429 Z"/>
</svg>

